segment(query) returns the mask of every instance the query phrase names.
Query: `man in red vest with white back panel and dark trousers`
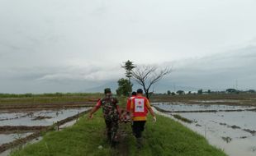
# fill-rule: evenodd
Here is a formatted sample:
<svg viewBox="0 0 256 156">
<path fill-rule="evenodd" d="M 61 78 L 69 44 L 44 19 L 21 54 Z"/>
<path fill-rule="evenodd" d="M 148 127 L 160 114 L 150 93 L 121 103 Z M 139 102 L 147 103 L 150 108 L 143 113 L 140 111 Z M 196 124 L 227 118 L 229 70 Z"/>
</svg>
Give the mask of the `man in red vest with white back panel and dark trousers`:
<svg viewBox="0 0 256 156">
<path fill-rule="evenodd" d="M 148 111 L 156 122 L 156 117 L 149 104 L 149 99 L 143 96 L 143 90 L 137 90 L 137 96 L 131 100 L 130 103 L 130 117 L 132 118 L 132 131 L 137 140 L 137 147 L 142 147 L 142 131 L 145 129 L 145 122 L 147 120 Z"/>
</svg>

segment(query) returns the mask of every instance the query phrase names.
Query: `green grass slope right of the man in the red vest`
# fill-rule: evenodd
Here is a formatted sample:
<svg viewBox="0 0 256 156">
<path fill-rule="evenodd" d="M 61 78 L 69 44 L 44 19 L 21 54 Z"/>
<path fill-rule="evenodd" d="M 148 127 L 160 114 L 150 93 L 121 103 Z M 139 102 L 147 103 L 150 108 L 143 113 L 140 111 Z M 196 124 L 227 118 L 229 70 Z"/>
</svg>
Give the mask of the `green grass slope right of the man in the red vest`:
<svg viewBox="0 0 256 156">
<path fill-rule="evenodd" d="M 169 156 L 222 156 L 220 149 L 208 144 L 201 135 L 182 126 L 168 117 L 158 116 L 158 122 L 146 123 L 144 148 L 135 149 L 135 139 L 130 140 L 130 155 L 169 155 Z"/>
</svg>

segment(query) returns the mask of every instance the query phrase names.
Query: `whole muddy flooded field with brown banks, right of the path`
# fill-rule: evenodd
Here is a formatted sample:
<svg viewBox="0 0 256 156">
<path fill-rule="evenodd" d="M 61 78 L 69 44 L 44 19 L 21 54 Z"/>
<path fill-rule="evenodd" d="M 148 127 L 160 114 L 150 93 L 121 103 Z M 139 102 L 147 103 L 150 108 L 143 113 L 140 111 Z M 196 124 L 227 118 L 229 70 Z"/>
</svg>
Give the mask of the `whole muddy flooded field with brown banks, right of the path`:
<svg viewBox="0 0 256 156">
<path fill-rule="evenodd" d="M 172 117 L 206 137 L 231 156 L 256 155 L 256 101 L 252 95 L 179 98 L 152 103 L 160 113 Z M 154 101 L 158 101 L 159 99 Z"/>
</svg>

